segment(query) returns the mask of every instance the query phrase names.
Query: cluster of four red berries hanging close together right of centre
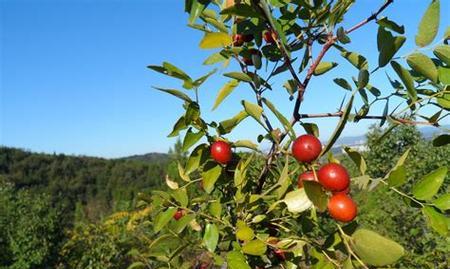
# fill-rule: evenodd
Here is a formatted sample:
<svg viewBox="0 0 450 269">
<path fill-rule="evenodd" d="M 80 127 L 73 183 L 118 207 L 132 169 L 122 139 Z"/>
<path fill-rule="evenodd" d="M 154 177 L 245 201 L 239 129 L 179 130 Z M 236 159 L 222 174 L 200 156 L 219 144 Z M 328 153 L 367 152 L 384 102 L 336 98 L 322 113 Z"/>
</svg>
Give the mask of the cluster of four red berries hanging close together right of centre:
<svg viewBox="0 0 450 269">
<path fill-rule="evenodd" d="M 313 135 L 299 136 L 292 144 L 292 155 L 297 161 L 311 163 L 322 151 L 322 144 Z M 298 187 L 303 187 L 303 181 L 316 181 L 315 171 L 306 171 L 298 177 Z M 357 214 L 356 203 L 348 195 L 350 192 L 350 176 L 340 164 L 328 163 L 317 171 L 317 179 L 324 189 L 332 193 L 328 201 L 328 212 L 335 220 L 352 221 Z"/>
</svg>

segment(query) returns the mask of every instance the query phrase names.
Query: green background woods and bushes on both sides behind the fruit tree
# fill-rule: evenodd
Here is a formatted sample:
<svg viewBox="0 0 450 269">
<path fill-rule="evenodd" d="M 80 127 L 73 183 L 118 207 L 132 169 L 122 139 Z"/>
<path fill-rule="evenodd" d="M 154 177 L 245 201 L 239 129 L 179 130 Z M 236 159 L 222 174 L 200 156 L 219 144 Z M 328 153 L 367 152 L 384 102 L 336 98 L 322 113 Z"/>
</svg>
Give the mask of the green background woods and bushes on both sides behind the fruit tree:
<svg viewBox="0 0 450 269">
<path fill-rule="evenodd" d="M 409 148 L 411 151 L 405 162 L 408 183 L 400 188 L 404 192 L 408 192 L 412 183 L 428 172 L 438 167 L 450 166 L 448 158 L 450 146 L 432 147 L 431 141 L 424 140 L 415 127 L 396 128 L 380 142 L 378 138 L 382 133 L 383 129 L 380 128 L 370 130 L 368 151 L 363 153 L 368 167 L 371 167 L 368 173 L 373 178 L 385 175 L 402 153 Z M 153 159 L 152 162 L 46 155 L 2 148 L 0 155 L 3 160 L 0 177 L 0 268 L 22 269 L 50 266 L 60 269 L 120 269 L 127 268 L 131 264 L 151 268 L 153 263 L 148 260 L 147 248 L 156 233 L 149 226 L 150 223 L 145 221 L 151 215 L 148 203 L 152 201 L 152 198 L 147 194 L 152 193 L 154 189 L 165 188 L 162 186 L 163 179 L 166 171 L 173 169 L 176 171 L 175 160 L 184 163 L 185 155 L 180 152 L 180 143 L 178 142 L 174 148 L 170 155 L 161 155 L 161 158 Z M 358 176 L 357 167 L 347 155 L 336 157 L 349 168 L 353 176 Z M 387 163 L 386 159 L 392 161 Z M 63 169 L 56 169 L 55 166 L 61 165 L 73 167 L 74 170 L 65 170 L 65 174 L 58 175 L 54 171 L 63 171 Z M 18 173 L 19 169 L 24 167 L 27 169 Z M 31 181 L 24 175 L 32 173 L 31 167 L 39 167 L 39 170 L 34 171 L 39 171 L 42 180 L 36 180 L 33 181 L 34 184 L 27 185 L 24 182 Z M 51 169 L 52 167 L 54 169 Z M 105 170 L 101 170 L 100 167 Z M 156 169 L 151 170 L 153 167 Z M 254 167 L 255 174 L 258 169 Z M 119 173 L 120 170 L 126 170 L 126 172 Z M 144 170 L 147 173 L 143 173 Z M 77 175 L 74 171 L 78 171 L 79 174 Z M 79 199 L 77 197 L 86 197 L 86 195 L 76 193 L 75 188 L 64 184 L 66 181 L 76 182 L 77 179 L 81 179 L 81 175 L 92 175 L 93 171 L 104 177 L 112 175 L 111 171 L 115 171 L 114 175 L 137 176 L 133 179 L 128 178 L 128 181 L 123 181 L 120 177 L 111 177 L 111 181 L 104 181 L 105 185 L 95 181 L 98 182 L 98 185 L 95 185 L 96 188 L 105 192 L 127 194 L 112 196 L 115 197 L 113 201 L 106 200 L 105 195 L 102 194 L 90 196 L 88 200 Z M 75 175 L 74 178 L 67 177 L 68 173 Z M 176 174 L 172 175 L 174 178 L 178 177 Z M 440 190 L 441 194 L 449 192 L 448 180 L 447 176 L 445 187 Z M 49 184 L 51 181 L 59 181 L 60 186 L 67 187 L 60 190 L 60 193 L 53 192 L 50 186 L 54 183 Z M 130 184 L 131 182 L 134 184 Z M 93 184 L 89 184 L 84 191 L 93 193 L 94 190 L 90 189 L 93 187 Z M 416 208 L 404 206 L 407 200 L 399 199 L 395 192 L 383 186 L 370 192 L 359 191 L 359 188 L 354 186 L 352 193 L 359 205 L 358 223 L 396 240 L 407 250 L 405 257 L 397 263 L 397 266 L 445 268 L 448 264 L 446 254 L 450 251 L 448 237 L 442 237 L 430 230 L 425 220 L 416 214 Z M 71 199 L 61 199 L 61 197 L 71 197 Z M 111 206 L 89 208 L 96 204 Z M 110 214 L 110 212 L 115 213 Z M 88 214 L 91 217 L 88 218 Z M 327 223 L 324 225 L 329 226 Z M 183 227 L 183 229 L 188 228 Z M 197 239 L 192 238 L 192 240 Z M 177 244 L 180 244 L 177 239 L 168 238 L 165 246 L 177 246 Z M 209 259 L 195 250 L 192 250 L 190 254 L 200 255 L 200 260 L 208 261 Z M 188 264 L 191 265 L 191 263 Z"/>
</svg>

